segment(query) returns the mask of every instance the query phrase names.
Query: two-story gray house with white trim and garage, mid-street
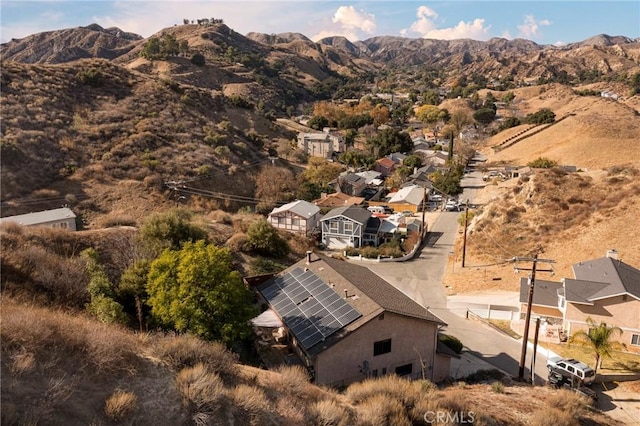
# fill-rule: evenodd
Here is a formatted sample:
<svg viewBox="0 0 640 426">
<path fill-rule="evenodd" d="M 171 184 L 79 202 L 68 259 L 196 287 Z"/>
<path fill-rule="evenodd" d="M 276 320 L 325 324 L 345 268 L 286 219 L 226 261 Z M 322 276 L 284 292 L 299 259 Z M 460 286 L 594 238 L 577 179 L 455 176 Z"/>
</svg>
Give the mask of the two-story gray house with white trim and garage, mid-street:
<svg viewBox="0 0 640 426">
<path fill-rule="evenodd" d="M 322 243 L 330 249 L 360 247 L 371 212 L 358 206 L 338 207 L 320 219 Z"/>
</svg>

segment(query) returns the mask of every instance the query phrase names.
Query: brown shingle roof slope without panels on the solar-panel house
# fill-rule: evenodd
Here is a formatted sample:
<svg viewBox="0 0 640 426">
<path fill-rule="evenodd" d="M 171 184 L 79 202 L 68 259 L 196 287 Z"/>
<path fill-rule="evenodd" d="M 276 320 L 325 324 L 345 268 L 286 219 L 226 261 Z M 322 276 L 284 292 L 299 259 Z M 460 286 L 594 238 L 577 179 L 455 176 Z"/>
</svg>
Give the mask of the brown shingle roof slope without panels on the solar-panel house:
<svg viewBox="0 0 640 426">
<path fill-rule="evenodd" d="M 320 256 L 320 258 L 385 310 L 444 324 L 440 318 L 420 306 L 369 268 L 330 257 Z"/>
</svg>

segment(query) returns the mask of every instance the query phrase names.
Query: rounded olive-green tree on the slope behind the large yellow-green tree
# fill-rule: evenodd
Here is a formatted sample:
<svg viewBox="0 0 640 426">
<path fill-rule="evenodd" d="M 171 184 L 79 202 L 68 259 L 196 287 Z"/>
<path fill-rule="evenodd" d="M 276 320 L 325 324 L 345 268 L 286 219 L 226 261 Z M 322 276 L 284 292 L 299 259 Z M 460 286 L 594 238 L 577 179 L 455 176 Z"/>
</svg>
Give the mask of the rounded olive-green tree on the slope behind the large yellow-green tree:
<svg viewBox="0 0 640 426">
<path fill-rule="evenodd" d="M 140 231 L 142 242 L 150 249 L 179 249 L 187 241 L 206 240 L 207 233 L 191 223 L 191 213 L 184 209 L 172 209 L 151 216 Z"/>
</svg>

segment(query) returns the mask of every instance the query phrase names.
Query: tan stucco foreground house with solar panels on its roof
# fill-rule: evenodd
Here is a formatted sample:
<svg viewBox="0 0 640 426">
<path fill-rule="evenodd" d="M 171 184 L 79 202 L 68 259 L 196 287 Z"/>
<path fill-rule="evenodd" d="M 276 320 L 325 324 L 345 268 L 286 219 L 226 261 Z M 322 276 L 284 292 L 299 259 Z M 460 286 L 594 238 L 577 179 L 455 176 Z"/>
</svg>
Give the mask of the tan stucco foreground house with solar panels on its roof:
<svg viewBox="0 0 640 426">
<path fill-rule="evenodd" d="M 446 324 L 364 266 L 309 252 L 256 290 L 317 385 L 449 376 L 452 354 L 437 338 Z"/>
</svg>

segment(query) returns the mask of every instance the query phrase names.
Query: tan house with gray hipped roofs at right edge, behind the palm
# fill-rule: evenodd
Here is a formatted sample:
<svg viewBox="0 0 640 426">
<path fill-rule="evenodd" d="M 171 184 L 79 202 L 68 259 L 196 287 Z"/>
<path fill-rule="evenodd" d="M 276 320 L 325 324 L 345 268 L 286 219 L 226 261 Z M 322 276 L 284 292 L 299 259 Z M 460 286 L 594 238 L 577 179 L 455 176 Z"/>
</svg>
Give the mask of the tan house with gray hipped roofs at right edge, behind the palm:
<svg viewBox="0 0 640 426">
<path fill-rule="evenodd" d="M 640 352 L 640 270 L 618 258 L 605 257 L 573 265 L 574 278 L 560 282 L 536 280 L 532 313 L 562 324 L 567 336 L 587 330 L 586 319 L 617 326 L 616 338 L 627 349 Z M 528 282 L 520 281 L 521 310 L 526 312 Z M 554 321 L 555 320 L 555 321 Z"/>
</svg>

